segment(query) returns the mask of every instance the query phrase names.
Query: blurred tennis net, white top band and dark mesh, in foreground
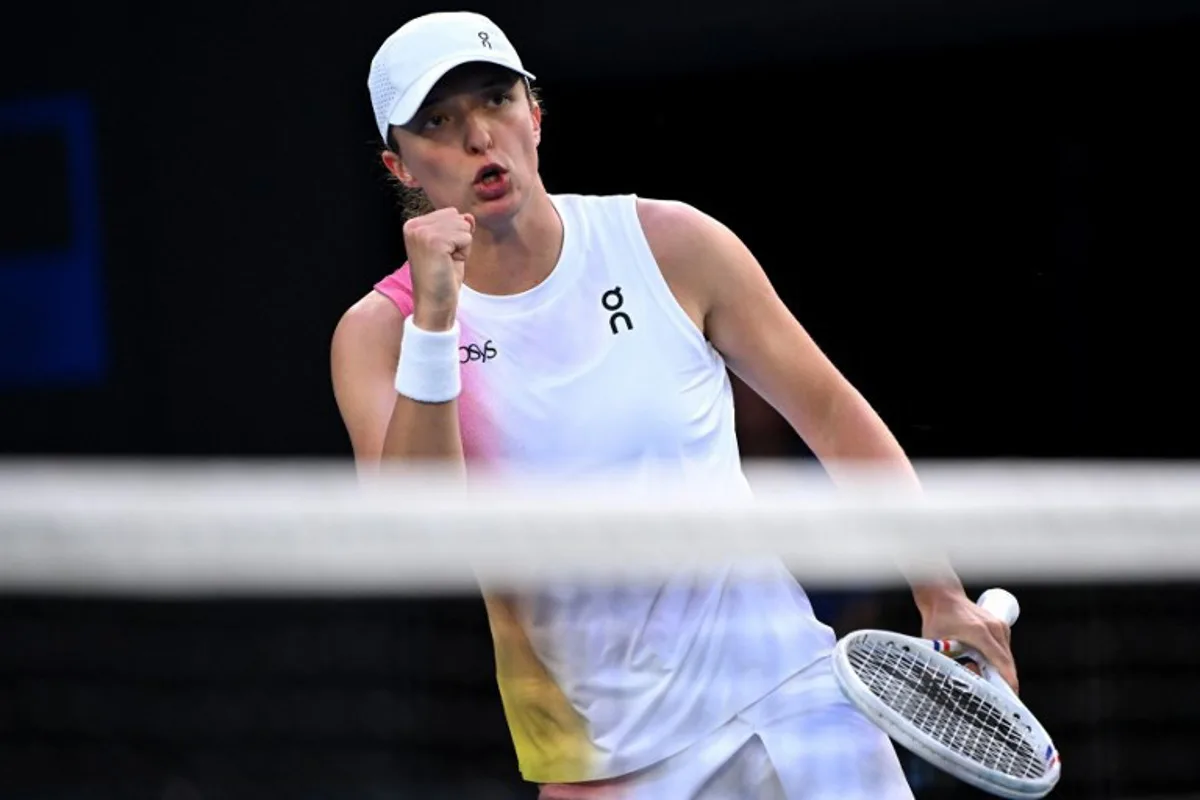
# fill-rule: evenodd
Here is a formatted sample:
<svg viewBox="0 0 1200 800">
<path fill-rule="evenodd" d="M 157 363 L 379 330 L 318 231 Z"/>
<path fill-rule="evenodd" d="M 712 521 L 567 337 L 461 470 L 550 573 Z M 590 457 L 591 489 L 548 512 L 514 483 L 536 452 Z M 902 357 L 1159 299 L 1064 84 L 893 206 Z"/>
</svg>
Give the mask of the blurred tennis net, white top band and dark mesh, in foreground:
<svg viewBox="0 0 1200 800">
<path fill-rule="evenodd" d="M 922 474 L 914 497 L 763 465 L 745 504 L 308 465 L 5 465 L 0 798 L 533 798 L 476 581 L 762 552 L 839 632 L 916 632 L 899 561 L 942 552 L 972 591 L 1012 588 L 1022 693 L 1063 752 L 1051 796 L 1196 792 L 1200 471 Z M 979 796 L 906 763 L 918 798 Z"/>
</svg>

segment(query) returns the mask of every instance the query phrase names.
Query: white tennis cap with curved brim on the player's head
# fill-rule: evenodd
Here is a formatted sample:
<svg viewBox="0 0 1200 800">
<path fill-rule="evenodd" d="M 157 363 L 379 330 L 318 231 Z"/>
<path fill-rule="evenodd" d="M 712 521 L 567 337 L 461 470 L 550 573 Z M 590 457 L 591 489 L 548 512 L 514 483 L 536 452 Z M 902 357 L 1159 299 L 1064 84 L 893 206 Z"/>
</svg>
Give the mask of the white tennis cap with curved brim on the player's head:
<svg viewBox="0 0 1200 800">
<path fill-rule="evenodd" d="M 509 37 L 482 14 L 450 11 L 412 19 L 371 60 L 367 88 L 379 136 L 404 125 L 442 76 L 472 61 L 498 64 L 533 80 Z"/>
</svg>

